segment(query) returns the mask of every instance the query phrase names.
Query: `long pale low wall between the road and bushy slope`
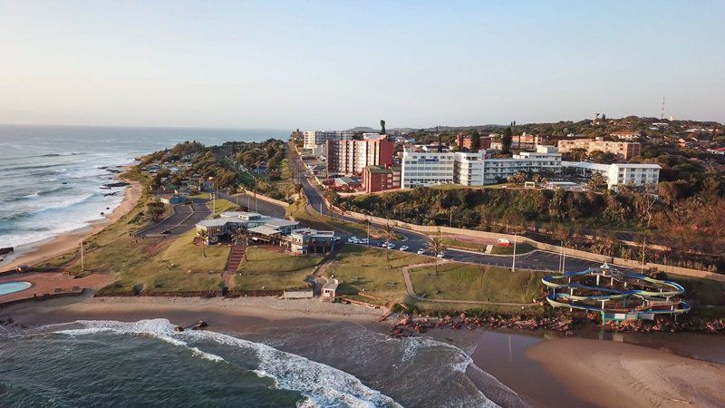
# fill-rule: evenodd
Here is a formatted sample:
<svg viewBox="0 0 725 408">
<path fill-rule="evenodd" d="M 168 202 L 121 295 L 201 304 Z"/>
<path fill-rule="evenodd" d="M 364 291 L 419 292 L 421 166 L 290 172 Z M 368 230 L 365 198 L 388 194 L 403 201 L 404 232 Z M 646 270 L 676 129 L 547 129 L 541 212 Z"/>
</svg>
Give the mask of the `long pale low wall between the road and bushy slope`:
<svg viewBox="0 0 725 408">
<path fill-rule="evenodd" d="M 424 226 L 424 225 L 411 224 L 408 222 L 402 222 L 402 221 L 393 220 L 393 219 L 382 219 L 380 217 L 368 216 L 368 215 L 361 214 L 359 212 L 353 212 L 353 211 L 345 211 L 344 214 L 345 214 L 345 216 L 353 218 L 353 219 L 359 219 L 361 221 L 370 219 L 370 221 L 372 223 L 381 224 L 381 225 L 390 223 L 392 227 L 410 229 L 411 231 L 420 232 L 423 234 L 437 234 L 440 232 L 443 234 L 466 235 L 469 237 L 476 237 L 476 238 L 491 238 L 491 239 L 506 238 L 511 242 L 516 241 L 517 244 L 526 243 L 534 248 L 549 251 L 549 252 L 556 252 L 556 253 L 563 252 L 567 257 L 581 257 L 583 259 L 588 259 L 588 260 L 592 260 L 595 262 L 602 262 L 602 263 L 606 262 L 608 264 L 618 265 L 621 267 L 635 267 L 635 268 L 642 267 L 641 262 L 637 262 L 632 259 L 623 259 L 621 257 L 607 257 L 605 255 L 593 254 L 591 252 L 586 252 L 586 251 L 582 251 L 582 250 L 578 250 L 578 249 L 562 248 L 562 247 L 559 247 L 556 245 L 546 244 L 544 242 L 539 242 L 534 239 L 521 237 L 521 236 L 517 236 L 517 235 L 498 234 L 496 232 L 478 231 L 476 229 Z M 656 268 L 660 269 L 662 272 L 668 273 L 668 274 L 682 275 L 685 277 L 701 277 L 701 278 L 705 278 L 705 279 L 711 279 L 711 280 L 717 280 L 720 282 L 725 282 L 725 275 L 720 275 L 720 274 L 716 274 L 716 273 L 705 271 L 705 270 L 691 269 L 689 267 L 674 267 L 671 265 L 654 264 L 651 262 L 644 264 L 644 267 L 645 268 L 656 267 Z"/>
</svg>

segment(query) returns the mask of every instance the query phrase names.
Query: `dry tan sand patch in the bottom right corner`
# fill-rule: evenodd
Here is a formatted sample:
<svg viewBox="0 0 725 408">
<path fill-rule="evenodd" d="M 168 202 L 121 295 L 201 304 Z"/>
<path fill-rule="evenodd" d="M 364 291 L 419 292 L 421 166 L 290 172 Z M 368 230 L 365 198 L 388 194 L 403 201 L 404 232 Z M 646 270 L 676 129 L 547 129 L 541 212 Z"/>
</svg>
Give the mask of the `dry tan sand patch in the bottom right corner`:
<svg viewBox="0 0 725 408">
<path fill-rule="evenodd" d="M 722 364 L 582 338 L 547 340 L 529 347 L 526 356 L 596 406 L 725 406 Z"/>
</svg>

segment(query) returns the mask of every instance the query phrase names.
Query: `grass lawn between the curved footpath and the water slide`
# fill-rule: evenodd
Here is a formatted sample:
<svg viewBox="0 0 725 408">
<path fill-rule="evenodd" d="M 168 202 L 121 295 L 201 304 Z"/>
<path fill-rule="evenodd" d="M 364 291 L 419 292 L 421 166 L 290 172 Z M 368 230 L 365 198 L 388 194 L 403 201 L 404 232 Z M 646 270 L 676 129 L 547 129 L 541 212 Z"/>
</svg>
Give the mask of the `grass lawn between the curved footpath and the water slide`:
<svg viewBox="0 0 725 408">
<path fill-rule="evenodd" d="M 411 270 L 415 292 L 431 299 L 529 303 L 541 291 L 543 272 L 448 263 Z"/>
</svg>

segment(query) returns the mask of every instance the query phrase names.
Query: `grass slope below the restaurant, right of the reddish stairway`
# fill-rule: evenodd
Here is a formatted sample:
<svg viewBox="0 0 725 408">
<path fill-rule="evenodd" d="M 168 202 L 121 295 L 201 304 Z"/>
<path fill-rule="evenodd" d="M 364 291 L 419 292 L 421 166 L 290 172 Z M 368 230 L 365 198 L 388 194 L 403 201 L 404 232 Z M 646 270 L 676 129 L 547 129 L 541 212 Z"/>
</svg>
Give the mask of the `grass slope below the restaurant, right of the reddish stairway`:
<svg viewBox="0 0 725 408">
<path fill-rule="evenodd" d="M 247 248 L 233 277 L 232 288 L 243 290 L 304 287 L 304 279 L 314 272 L 322 257 L 298 257 L 267 248 Z"/>
</svg>

